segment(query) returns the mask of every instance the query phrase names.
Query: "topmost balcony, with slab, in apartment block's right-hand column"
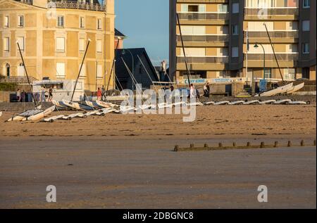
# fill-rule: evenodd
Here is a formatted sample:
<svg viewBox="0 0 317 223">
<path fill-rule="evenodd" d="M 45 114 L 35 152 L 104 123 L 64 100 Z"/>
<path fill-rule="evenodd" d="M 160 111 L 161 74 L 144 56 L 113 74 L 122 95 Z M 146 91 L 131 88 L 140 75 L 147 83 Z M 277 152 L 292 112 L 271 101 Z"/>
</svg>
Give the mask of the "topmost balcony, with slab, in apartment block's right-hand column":
<svg viewBox="0 0 317 223">
<path fill-rule="evenodd" d="M 298 8 L 244 8 L 245 20 L 297 20 Z"/>
</svg>

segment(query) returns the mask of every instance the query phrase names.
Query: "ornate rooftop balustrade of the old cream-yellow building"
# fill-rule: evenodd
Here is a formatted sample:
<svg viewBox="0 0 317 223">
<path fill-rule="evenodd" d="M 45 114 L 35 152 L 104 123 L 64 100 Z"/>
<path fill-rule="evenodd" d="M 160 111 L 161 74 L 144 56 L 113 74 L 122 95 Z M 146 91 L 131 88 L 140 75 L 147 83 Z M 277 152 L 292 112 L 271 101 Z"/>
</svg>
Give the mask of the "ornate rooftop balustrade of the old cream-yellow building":
<svg viewBox="0 0 317 223">
<path fill-rule="evenodd" d="M 106 11 L 106 4 L 102 6 L 100 4 L 79 3 L 73 1 L 48 1 L 48 3 L 51 3 L 51 7 L 56 8 L 73 8 L 89 11 Z"/>
</svg>

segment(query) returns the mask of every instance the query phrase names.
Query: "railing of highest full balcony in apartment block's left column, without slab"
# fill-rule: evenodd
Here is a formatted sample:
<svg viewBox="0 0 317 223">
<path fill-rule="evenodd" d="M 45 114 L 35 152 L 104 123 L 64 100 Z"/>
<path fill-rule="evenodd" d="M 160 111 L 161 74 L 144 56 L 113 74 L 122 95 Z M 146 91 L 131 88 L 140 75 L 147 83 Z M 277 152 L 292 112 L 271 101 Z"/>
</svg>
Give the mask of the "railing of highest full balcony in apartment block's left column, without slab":
<svg viewBox="0 0 317 223">
<path fill-rule="evenodd" d="M 180 20 L 228 20 L 228 13 L 178 13 Z"/>
</svg>

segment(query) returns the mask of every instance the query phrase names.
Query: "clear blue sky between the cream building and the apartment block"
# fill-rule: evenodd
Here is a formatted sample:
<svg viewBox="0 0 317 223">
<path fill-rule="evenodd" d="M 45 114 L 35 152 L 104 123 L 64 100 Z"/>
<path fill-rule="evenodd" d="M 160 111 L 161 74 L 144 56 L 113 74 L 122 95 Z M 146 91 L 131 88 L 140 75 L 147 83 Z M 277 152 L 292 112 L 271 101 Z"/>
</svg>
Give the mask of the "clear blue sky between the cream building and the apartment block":
<svg viewBox="0 0 317 223">
<path fill-rule="evenodd" d="M 154 65 L 168 60 L 168 0 L 116 0 L 115 8 L 125 48 L 144 47 Z"/>
</svg>

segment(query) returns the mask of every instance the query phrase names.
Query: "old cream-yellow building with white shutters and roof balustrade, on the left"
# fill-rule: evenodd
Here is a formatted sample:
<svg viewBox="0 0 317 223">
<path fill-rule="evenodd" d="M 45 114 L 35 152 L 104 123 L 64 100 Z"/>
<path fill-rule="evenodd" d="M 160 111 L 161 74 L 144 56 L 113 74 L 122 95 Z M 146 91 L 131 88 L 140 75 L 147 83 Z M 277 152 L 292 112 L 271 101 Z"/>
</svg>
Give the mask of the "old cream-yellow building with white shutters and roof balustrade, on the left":
<svg viewBox="0 0 317 223">
<path fill-rule="evenodd" d="M 0 75 L 76 79 L 83 89 L 106 85 L 114 57 L 114 0 L 0 0 Z M 110 80 L 110 87 L 113 79 Z"/>
</svg>

